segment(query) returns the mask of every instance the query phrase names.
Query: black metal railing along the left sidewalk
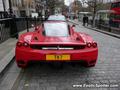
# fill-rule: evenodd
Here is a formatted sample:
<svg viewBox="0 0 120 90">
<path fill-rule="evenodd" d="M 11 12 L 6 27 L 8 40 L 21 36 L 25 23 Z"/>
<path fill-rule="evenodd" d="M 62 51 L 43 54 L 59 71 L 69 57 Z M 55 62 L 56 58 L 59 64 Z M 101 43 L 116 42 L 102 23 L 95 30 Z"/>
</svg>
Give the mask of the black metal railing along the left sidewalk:
<svg viewBox="0 0 120 90">
<path fill-rule="evenodd" d="M 31 24 L 41 24 L 41 18 L 7 18 L 0 19 L 0 43 L 10 37 L 18 38 L 18 33 L 31 27 Z"/>
</svg>

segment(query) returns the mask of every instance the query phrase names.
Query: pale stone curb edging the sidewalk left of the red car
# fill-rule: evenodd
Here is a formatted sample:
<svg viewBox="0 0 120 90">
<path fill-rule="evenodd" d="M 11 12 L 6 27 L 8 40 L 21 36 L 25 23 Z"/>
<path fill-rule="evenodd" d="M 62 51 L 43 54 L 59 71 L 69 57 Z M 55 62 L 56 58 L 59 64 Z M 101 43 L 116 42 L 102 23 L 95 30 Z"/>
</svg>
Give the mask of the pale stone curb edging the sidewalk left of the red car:
<svg viewBox="0 0 120 90">
<path fill-rule="evenodd" d="M 2 60 L 0 60 L 0 76 L 2 76 L 6 71 L 7 67 L 10 66 L 14 56 L 15 56 L 15 48 L 13 48 L 7 55 L 4 56 Z"/>
</svg>

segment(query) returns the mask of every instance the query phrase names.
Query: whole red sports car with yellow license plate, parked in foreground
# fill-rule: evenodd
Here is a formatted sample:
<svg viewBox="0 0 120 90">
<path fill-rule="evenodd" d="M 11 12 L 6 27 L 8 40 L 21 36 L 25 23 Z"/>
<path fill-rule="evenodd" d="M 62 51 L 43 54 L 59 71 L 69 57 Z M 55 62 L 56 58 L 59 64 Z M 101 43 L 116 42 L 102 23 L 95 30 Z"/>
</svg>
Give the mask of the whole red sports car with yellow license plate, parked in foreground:
<svg viewBox="0 0 120 90">
<path fill-rule="evenodd" d="M 74 26 L 46 21 L 34 32 L 19 37 L 15 56 L 19 67 L 26 67 L 31 61 L 85 61 L 87 66 L 95 66 L 98 47 L 88 34 L 75 32 Z"/>
</svg>

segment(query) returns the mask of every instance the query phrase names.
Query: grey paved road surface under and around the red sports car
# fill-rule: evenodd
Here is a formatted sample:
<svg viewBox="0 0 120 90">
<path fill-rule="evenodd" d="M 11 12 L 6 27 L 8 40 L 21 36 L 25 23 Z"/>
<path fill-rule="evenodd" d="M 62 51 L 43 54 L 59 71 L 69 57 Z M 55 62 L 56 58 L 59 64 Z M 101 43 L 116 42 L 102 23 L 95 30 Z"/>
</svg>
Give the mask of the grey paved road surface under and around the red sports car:
<svg viewBox="0 0 120 90">
<path fill-rule="evenodd" d="M 47 63 L 34 63 L 19 69 L 13 63 L 0 79 L 0 90 L 120 90 L 120 39 L 81 25 L 76 26 L 76 31 L 90 34 L 98 42 L 95 67 L 64 64 L 58 69 Z"/>
</svg>

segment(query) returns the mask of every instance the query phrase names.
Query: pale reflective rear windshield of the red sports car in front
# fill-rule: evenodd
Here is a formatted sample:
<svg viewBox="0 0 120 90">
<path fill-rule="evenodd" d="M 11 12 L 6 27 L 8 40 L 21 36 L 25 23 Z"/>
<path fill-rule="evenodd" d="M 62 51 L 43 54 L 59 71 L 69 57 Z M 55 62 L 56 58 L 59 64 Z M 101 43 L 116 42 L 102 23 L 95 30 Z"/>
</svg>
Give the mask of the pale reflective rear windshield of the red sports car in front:
<svg viewBox="0 0 120 90">
<path fill-rule="evenodd" d="M 65 22 L 44 23 L 44 30 L 46 36 L 57 36 L 57 37 L 69 36 L 67 23 Z"/>
</svg>

